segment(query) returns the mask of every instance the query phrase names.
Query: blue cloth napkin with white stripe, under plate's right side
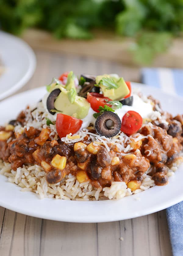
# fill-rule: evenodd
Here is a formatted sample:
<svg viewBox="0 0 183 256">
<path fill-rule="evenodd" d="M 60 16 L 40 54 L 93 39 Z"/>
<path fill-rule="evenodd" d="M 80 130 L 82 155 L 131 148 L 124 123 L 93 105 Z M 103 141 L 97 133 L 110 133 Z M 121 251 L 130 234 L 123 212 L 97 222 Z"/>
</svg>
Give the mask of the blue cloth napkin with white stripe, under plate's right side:
<svg viewBox="0 0 183 256">
<path fill-rule="evenodd" d="M 143 68 L 142 83 L 183 96 L 183 70 Z M 183 256 L 183 201 L 167 208 L 167 222 L 174 256 Z"/>
</svg>

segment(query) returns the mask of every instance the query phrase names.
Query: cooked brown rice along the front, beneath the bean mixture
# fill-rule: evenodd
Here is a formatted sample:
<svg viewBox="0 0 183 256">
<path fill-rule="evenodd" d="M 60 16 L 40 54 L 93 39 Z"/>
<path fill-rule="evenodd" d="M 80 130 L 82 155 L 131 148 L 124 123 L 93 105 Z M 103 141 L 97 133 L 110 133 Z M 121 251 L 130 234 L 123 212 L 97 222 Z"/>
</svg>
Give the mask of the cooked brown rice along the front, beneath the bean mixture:
<svg viewBox="0 0 183 256">
<path fill-rule="evenodd" d="M 79 183 L 74 175 L 66 175 L 57 184 L 48 184 L 46 173 L 39 165 L 23 165 L 16 171 L 11 169 L 11 164 L 0 159 L 0 174 L 5 175 L 8 181 L 21 187 L 22 192 L 31 191 L 38 194 L 39 198 L 56 198 L 76 201 L 97 201 L 104 199 L 121 199 L 131 194 L 155 186 L 151 176 L 143 175 L 140 189 L 131 192 L 124 182 L 112 182 L 110 187 L 100 189 L 94 188 L 89 181 Z M 23 177 L 23 178 L 22 178 Z"/>
</svg>

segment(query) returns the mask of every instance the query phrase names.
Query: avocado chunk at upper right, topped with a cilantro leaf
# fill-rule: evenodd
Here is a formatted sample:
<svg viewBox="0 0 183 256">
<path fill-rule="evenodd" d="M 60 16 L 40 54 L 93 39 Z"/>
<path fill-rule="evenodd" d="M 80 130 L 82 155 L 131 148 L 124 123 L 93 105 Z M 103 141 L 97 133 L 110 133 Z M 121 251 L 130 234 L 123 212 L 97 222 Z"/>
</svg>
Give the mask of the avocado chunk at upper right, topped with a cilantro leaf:
<svg viewBox="0 0 183 256">
<path fill-rule="evenodd" d="M 116 82 L 119 85 L 116 89 L 107 89 L 106 86 L 100 84 L 103 95 L 111 100 L 120 100 L 130 93 L 127 84 L 122 77 Z"/>
</svg>

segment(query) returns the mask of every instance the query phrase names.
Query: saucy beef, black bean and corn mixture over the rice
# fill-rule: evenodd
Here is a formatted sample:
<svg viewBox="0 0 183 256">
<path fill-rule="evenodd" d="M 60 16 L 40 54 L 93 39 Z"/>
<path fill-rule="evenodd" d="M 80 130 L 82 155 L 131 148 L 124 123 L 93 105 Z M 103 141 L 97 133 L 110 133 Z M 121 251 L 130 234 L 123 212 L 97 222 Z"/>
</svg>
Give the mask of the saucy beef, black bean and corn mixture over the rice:
<svg viewBox="0 0 183 256">
<path fill-rule="evenodd" d="M 16 122 L 24 124 L 25 120 L 20 116 L 25 118 L 21 113 Z M 171 117 L 168 121 L 168 125 L 158 121 L 151 126 L 144 125 L 139 135 L 145 138 L 136 141 L 132 136 L 130 145 L 133 149 L 124 156 L 118 154 L 119 150 L 112 143 L 108 144 L 108 152 L 102 143 L 91 142 L 88 136 L 83 141 L 66 144 L 61 140 L 51 140 L 49 128 L 40 131 L 30 127 L 22 134 L 14 134 L 14 127 L 9 124 L 0 127 L 0 158 L 9 161 L 13 170 L 23 164 L 41 165 L 47 173 L 48 183 L 58 183 L 71 173 L 78 174 L 78 177 L 82 175 L 82 181 L 83 177 L 90 179 L 97 188 L 110 186 L 112 181 L 123 181 L 130 188 L 137 189 L 142 183 L 143 173 L 152 165 L 150 175 L 156 185 L 162 186 L 168 183 L 168 167 L 183 149 L 183 116 Z M 90 132 L 95 133 L 95 130 Z M 10 142 L 9 137 L 12 137 Z"/>
</svg>

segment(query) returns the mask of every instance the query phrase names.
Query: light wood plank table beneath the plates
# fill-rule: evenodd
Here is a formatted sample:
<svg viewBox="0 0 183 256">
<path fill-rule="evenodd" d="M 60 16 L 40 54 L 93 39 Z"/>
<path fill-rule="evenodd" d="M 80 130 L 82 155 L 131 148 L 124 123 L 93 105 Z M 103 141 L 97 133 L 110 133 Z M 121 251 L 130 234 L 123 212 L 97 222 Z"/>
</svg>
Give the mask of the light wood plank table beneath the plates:
<svg viewBox="0 0 183 256">
<path fill-rule="evenodd" d="M 63 71 L 118 73 L 139 81 L 137 68 L 116 62 L 36 50 L 37 69 L 19 92 L 48 84 Z M 44 200 L 44 199 L 43 199 Z M 149 199 L 150 200 L 150 199 Z M 135 211 L 135 209 L 134 209 Z M 0 256 L 170 256 L 166 212 L 109 223 L 64 223 L 0 207 Z"/>
</svg>

